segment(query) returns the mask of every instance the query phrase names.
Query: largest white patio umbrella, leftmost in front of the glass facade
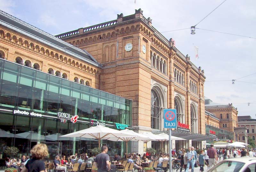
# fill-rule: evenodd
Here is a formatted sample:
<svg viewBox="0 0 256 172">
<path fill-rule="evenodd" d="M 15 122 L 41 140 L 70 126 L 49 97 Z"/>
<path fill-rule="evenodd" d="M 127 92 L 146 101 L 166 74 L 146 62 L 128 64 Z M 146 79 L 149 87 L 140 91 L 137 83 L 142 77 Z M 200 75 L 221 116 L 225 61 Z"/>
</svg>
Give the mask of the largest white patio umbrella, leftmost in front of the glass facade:
<svg viewBox="0 0 256 172">
<path fill-rule="evenodd" d="M 89 139 L 97 139 L 99 142 L 100 148 L 100 140 L 106 140 L 110 137 L 126 137 L 126 136 L 134 136 L 129 133 L 122 133 L 119 130 L 115 130 L 112 128 L 108 128 L 105 126 L 92 126 L 90 128 L 80 130 L 74 133 L 69 133 L 60 137 L 81 137 L 81 138 L 89 138 Z"/>
</svg>

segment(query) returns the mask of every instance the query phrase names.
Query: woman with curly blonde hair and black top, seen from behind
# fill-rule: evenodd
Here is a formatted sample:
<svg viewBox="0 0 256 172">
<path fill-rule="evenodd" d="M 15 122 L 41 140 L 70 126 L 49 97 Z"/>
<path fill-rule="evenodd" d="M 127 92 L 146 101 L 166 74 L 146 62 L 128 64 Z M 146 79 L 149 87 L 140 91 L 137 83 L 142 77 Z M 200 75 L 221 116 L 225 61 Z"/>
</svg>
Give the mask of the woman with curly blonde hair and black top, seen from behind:
<svg viewBox="0 0 256 172">
<path fill-rule="evenodd" d="M 43 143 L 37 144 L 31 149 L 30 153 L 32 159 L 28 160 L 21 172 L 44 172 L 45 164 L 42 160 L 48 156 L 47 146 Z"/>
</svg>

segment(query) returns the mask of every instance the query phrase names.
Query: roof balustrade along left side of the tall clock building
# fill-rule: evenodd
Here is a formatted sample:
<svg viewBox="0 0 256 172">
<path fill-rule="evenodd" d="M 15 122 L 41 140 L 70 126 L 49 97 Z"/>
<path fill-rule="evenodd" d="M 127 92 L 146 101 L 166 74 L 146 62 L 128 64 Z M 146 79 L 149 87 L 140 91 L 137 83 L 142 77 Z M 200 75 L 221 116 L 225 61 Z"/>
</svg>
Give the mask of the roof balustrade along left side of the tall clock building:
<svg viewBox="0 0 256 172">
<path fill-rule="evenodd" d="M 113 20 L 113 21 L 101 23 L 101 24 L 98 24 L 98 25 L 93 25 L 93 26 L 85 27 L 85 28 L 83 28 L 83 32 L 89 32 L 89 31 L 93 31 L 93 30 L 100 29 L 100 28 L 103 28 L 103 27 L 108 27 L 108 26 L 111 26 L 111 25 L 116 25 L 116 23 L 117 23 L 117 20 Z M 76 35 L 78 33 L 79 33 L 79 29 L 74 30 L 74 31 L 70 31 L 70 32 L 66 32 L 66 33 L 62 33 L 60 35 L 56 35 L 56 37 L 61 39 L 61 38 L 64 38 L 64 37 Z"/>
</svg>

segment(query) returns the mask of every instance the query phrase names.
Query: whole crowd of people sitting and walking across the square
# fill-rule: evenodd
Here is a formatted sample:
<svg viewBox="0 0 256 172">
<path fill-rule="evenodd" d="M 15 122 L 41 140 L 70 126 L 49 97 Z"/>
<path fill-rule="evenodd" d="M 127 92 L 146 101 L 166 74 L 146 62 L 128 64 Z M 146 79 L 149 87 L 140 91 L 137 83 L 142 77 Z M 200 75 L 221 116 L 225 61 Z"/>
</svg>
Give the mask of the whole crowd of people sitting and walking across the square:
<svg viewBox="0 0 256 172">
<path fill-rule="evenodd" d="M 158 162 L 157 167 L 161 168 L 164 161 L 169 161 L 170 156 L 173 158 L 172 160 L 178 160 L 180 162 L 180 172 L 184 169 L 185 172 L 188 172 L 188 169 L 191 168 L 191 172 L 194 172 L 194 168 L 200 167 L 200 171 L 204 171 L 204 165 L 207 166 L 207 169 L 210 169 L 214 166 L 217 161 L 234 158 L 234 157 L 244 157 L 249 156 L 253 157 L 256 155 L 255 149 L 235 149 L 235 148 L 214 148 L 213 144 L 211 147 L 207 149 L 200 150 L 195 147 L 188 147 L 188 149 L 179 149 L 176 151 L 172 149 L 170 154 L 143 154 L 142 156 L 138 153 L 129 153 L 124 154 L 121 157 L 120 154 L 115 154 L 115 156 L 110 161 L 110 157 L 107 154 L 108 147 L 103 145 L 101 147 L 101 154 L 94 156 L 92 154 L 74 154 L 71 156 L 59 156 L 56 155 L 53 161 L 54 167 L 56 170 L 63 170 L 67 172 L 67 166 L 75 164 L 75 163 L 91 163 L 97 162 L 95 165 L 98 168 L 99 172 L 107 172 L 110 169 L 111 161 L 121 161 L 125 160 L 127 157 L 128 163 L 134 163 L 133 168 L 138 169 L 138 171 L 142 171 L 143 164 L 149 164 L 151 161 Z M 200 153 L 199 153 L 200 152 Z M 48 149 L 45 144 L 38 144 L 31 149 L 31 158 L 25 155 L 22 155 L 20 160 L 10 159 L 10 157 L 6 157 L 6 166 L 16 168 L 18 172 L 40 172 L 45 168 L 45 163 L 42 161 L 48 155 Z M 44 167 L 43 167 L 44 166 Z M 35 170 L 36 169 L 36 170 Z M 100 170 L 99 170 L 100 169 Z"/>
</svg>

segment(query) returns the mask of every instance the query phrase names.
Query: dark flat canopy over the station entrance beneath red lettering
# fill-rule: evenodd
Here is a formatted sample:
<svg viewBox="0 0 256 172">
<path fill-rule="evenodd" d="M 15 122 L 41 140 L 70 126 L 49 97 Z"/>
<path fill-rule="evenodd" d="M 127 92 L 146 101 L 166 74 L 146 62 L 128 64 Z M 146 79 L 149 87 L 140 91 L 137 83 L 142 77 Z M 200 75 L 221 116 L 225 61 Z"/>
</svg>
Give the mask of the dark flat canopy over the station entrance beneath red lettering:
<svg viewBox="0 0 256 172">
<path fill-rule="evenodd" d="M 169 134 L 169 131 L 160 131 L 160 132 Z M 217 137 L 209 136 L 205 134 L 190 133 L 190 132 L 179 131 L 179 130 L 172 130 L 172 136 L 176 136 L 176 137 L 180 137 L 180 138 L 192 140 L 192 141 L 204 141 L 204 140 L 212 140 L 217 138 Z"/>
</svg>

